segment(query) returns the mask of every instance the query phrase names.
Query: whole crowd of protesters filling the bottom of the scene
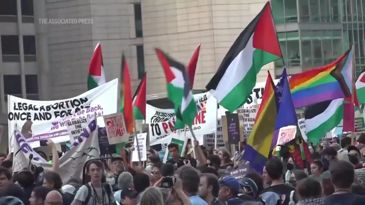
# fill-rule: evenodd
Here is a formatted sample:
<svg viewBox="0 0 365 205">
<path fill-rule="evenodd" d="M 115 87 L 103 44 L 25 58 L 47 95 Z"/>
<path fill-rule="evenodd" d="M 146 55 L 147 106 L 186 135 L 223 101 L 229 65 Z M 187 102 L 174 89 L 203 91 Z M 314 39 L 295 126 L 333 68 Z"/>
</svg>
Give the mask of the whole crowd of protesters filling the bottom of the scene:
<svg viewBox="0 0 365 205">
<path fill-rule="evenodd" d="M 92 159 L 85 178 L 67 182 L 57 171 L 46 171 L 41 180 L 27 169 L 12 173 L 11 154 L 0 154 L 0 205 L 365 204 L 365 134 L 356 146 L 344 137 L 311 148 L 309 172 L 282 155 L 269 158 L 262 174 L 250 170 L 240 179 L 231 176 L 233 161 L 247 162 L 231 158 L 224 147 L 214 154 L 195 143 L 196 151 L 187 149 L 185 157 L 177 144 L 169 144 L 172 159 L 166 163 L 155 150 L 147 151 L 144 163 L 131 163 L 127 150 L 122 157 Z M 241 150 L 238 158 L 244 144 Z"/>
</svg>

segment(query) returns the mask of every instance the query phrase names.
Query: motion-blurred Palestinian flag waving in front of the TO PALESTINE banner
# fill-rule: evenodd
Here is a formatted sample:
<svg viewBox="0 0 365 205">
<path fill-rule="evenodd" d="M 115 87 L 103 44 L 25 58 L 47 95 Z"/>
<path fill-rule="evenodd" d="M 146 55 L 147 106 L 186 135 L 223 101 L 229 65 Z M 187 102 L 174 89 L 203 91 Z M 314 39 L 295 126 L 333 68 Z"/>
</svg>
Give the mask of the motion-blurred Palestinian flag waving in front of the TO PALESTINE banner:
<svg viewBox="0 0 365 205">
<path fill-rule="evenodd" d="M 162 50 L 156 49 L 156 54 L 166 76 L 167 98 L 175 105 L 176 120 L 191 126 L 197 114 L 197 108 L 187 70 L 183 64 L 173 60 Z"/>
</svg>

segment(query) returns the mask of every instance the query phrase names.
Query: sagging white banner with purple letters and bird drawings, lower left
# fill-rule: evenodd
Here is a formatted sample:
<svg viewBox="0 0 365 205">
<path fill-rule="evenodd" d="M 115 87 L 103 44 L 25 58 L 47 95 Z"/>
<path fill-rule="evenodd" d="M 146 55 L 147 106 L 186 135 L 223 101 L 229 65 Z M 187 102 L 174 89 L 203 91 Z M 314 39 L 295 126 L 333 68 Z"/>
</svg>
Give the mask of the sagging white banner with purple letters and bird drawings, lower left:
<svg viewBox="0 0 365 205">
<path fill-rule="evenodd" d="M 16 128 L 14 139 L 13 172 L 22 171 L 28 168 L 30 154 L 33 155 L 31 164 L 41 166 L 46 171 L 52 170 L 52 164 L 43 159 L 35 152 L 27 139 Z M 91 119 L 85 130 L 61 158 L 59 158 L 59 169 L 57 173 L 62 181 L 67 182 L 70 178 L 82 178 L 82 168 L 90 160 L 99 158 L 99 144 L 97 140 L 96 119 Z"/>
</svg>

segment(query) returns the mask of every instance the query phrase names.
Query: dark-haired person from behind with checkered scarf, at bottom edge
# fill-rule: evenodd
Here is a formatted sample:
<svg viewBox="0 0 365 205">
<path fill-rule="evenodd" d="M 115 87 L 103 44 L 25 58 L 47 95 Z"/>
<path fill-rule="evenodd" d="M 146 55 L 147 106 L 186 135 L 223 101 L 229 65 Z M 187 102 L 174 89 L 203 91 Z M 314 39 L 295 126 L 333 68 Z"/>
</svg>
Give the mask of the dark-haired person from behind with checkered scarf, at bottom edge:
<svg viewBox="0 0 365 205">
<path fill-rule="evenodd" d="M 296 187 L 299 201 L 296 205 L 323 205 L 322 188 L 316 179 L 306 178 L 298 182 Z"/>
</svg>

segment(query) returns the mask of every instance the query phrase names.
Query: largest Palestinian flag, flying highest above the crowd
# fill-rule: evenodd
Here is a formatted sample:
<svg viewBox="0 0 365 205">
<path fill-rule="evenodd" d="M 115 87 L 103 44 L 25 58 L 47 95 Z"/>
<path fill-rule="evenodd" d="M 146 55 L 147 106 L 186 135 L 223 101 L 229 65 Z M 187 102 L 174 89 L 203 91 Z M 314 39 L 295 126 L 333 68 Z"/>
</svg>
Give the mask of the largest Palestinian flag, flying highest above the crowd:
<svg viewBox="0 0 365 205">
<path fill-rule="evenodd" d="M 247 100 L 261 67 L 282 56 L 268 2 L 239 34 L 205 88 L 233 112 Z"/>
</svg>

